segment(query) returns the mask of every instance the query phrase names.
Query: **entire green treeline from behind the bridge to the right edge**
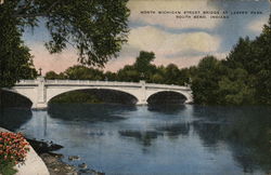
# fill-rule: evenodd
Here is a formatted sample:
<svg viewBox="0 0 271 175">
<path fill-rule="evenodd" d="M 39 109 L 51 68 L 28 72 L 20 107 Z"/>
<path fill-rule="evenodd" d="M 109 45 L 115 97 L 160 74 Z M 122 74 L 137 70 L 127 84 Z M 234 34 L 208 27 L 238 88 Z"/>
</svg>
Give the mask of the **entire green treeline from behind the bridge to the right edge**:
<svg viewBox="0 0 271 175">
<path fill-rule="evenodd" d="M 271 17 L 256 39 L 240 38 L 225 59 L 209 55 L 197 66 L 179 69 L 175 64 L 155 66 L 154 58 L 153 52 L 141 51 L 133 65 L 117 72 L 77 65 L 61 73 L 49 71 L 46 78 L 191 84 L 196 104 L 271 105 Z"/>
</svg>

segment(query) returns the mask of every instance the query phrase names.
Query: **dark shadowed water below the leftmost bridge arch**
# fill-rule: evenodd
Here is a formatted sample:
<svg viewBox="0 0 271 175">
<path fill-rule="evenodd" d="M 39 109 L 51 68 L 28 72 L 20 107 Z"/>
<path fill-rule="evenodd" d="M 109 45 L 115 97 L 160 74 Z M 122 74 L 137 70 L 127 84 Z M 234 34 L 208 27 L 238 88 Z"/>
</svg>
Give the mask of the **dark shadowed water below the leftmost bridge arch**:
<svg viewBox="0 0 271 175">
<path fill-rule="evenodd" d="M 3 108 L 0 111 L 0 126 L 15 131 L 29 121 L 31 117 L 33 112 L 29 109 Z"/>
</svg>

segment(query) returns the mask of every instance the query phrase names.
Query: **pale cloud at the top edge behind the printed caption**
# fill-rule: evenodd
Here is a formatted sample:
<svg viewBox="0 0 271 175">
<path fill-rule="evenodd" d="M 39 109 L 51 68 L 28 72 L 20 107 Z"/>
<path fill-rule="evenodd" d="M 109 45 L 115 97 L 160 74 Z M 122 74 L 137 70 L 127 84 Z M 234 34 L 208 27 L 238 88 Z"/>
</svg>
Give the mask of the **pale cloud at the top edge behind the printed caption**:
<svg viewBox="0 0 271 175">
<path fill-rule="evenodd" d="M 209 18 L 177 18 L 177 15 L 184 14 L 158 14 L 158 11 L 163 12 L 184 12 L 184 11 L 216 11 L 215 5 L 208 2 L 208 0 L 196 1 L 181 1 L 181 0 L 130 0 L 128 8 L 131 10 L 130 21 L 141 23 L 144 25 L 158 25 L 163 27 L 173 29 L 185 28 L 201 28 L 212 29 L 217 27 L 222 19 L 209 19 Z M 155 14 L 142 14 L 143 11 L 155 11 Z"/>
</svg>

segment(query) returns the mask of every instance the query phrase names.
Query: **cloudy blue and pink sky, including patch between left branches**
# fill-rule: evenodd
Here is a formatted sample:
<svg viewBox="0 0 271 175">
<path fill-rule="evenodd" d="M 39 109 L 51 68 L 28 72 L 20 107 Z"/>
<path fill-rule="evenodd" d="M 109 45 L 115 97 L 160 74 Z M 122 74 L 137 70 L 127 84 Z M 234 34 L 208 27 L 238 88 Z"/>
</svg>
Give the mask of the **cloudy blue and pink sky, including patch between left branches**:
<svg viewBox="0 0 271 175">
<path fill-rule="evenodd" d="M 128 42 L 119 56 L 105 65 L 104 71 L 117 71 L 133 64 L 140 51 L 154 52 L 157 66 L 176 64 L 180 68 L 194 66 L 206 55 L 225 58 L 240 37 L 254 39 L 261 32 L 271 3 L 270 0 L 130 0 L 128 8 L 131 11 Z M 198 15 L 206 18 L 194 18 Z M 24 40 L 31 50 L 36 69 L 42 68 L 43 75 L 78 64 L 76 51 L 70 46 L 53 55 L 46 50 L 49 35 L 42 24 L 27 30 Z"/>
</svg>

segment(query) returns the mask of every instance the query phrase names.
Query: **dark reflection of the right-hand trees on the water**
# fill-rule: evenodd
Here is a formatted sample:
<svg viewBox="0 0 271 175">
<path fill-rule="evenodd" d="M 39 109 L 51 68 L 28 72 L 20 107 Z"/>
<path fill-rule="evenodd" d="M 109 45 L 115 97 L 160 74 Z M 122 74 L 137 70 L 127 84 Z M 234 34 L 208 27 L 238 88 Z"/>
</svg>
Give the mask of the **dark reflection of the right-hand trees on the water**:
<svg viewBox="0 0 271 175">
<path fill-rule="evenodd" d="M 224 142 L 244 173 L 271 170 L 271 108 L 196 107 L 194 131 L 204 145 Z"/>
</svg>

